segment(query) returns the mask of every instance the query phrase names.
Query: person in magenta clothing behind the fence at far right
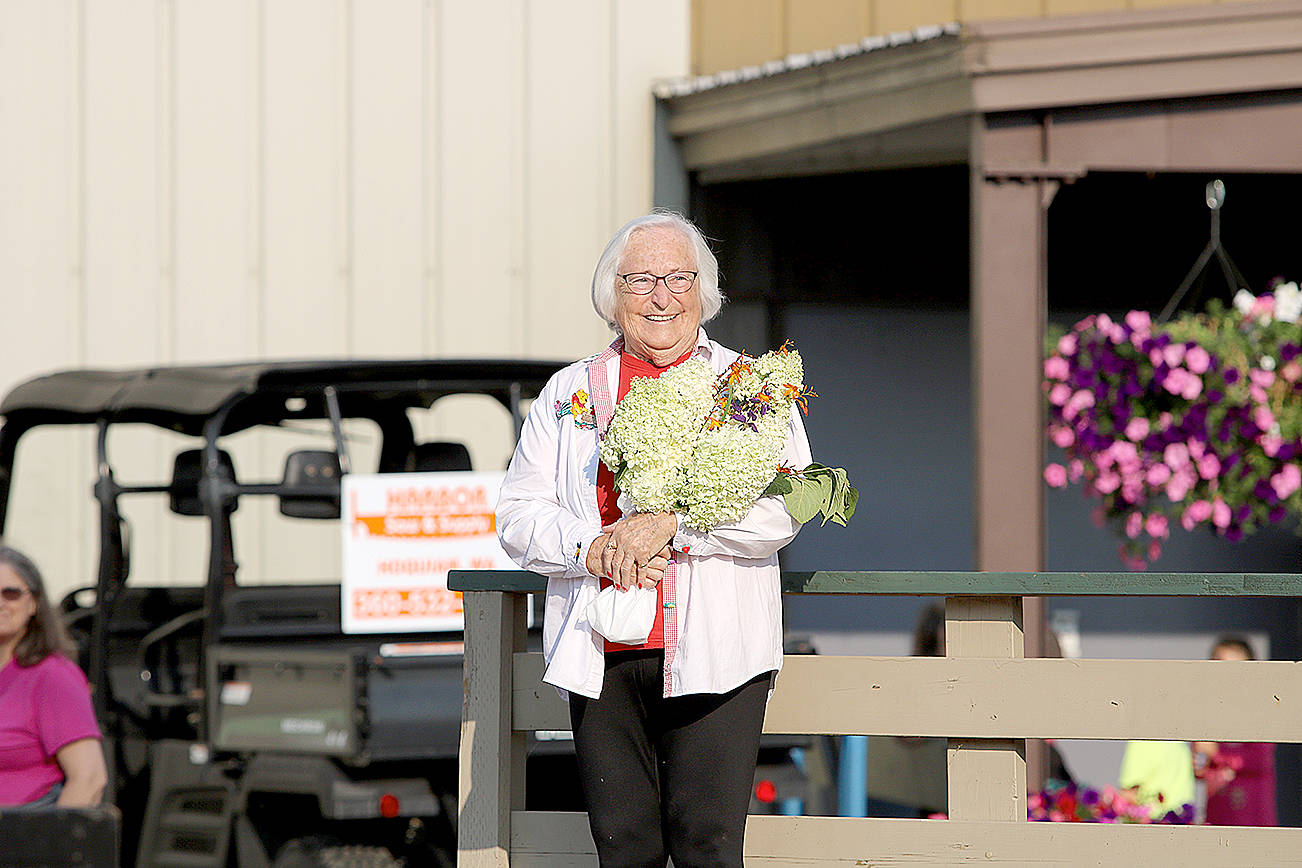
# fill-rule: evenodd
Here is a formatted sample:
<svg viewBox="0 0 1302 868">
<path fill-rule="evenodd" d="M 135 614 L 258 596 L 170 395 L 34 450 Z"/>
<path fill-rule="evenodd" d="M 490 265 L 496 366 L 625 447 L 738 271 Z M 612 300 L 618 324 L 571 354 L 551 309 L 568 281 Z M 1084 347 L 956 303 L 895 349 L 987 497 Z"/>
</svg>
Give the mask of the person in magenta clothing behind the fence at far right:
<svg viewBox="0 0 1302 868">
<path fill-rule="evenodd" d="M 1240 636 L 1221 636 L 1212 660 L 1256 660 Z M 1263 742 L 1194 742 L 1194 766 L 1207 785 L 1206 821 L 1217 826 L 1279 825 L 1275 746 Z"/>
</svg>

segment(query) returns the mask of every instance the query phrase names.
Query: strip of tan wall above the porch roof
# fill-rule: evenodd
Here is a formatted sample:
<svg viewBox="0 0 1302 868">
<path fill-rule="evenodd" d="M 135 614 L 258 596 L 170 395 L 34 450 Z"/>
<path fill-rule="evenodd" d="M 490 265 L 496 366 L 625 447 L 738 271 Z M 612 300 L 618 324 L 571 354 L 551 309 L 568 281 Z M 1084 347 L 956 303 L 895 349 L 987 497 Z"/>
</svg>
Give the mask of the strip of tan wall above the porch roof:
<svg viewBox="0 0 1302 868">
<path fill-rule="evenodd" d="M 691 72 L 707 75 L 926 25 L 1243 0 L 691 0 Z"/>
</svg>

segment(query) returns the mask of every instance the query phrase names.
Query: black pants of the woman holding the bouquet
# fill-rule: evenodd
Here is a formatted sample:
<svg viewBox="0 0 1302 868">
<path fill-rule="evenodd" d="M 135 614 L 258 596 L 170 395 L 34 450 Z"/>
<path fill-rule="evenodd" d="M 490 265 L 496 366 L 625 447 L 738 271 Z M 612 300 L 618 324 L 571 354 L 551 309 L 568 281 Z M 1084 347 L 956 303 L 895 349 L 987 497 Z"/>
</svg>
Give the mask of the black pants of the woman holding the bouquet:
<svg viewBox="0 0 1302 868">
<path fill-rule="evenodd" d="M 599 699 L 570 695 L 603 868 L 741 868 L 771 673 L 727 694 L 664 699 L 664 652 L 605 656 Z"/>
</svg>

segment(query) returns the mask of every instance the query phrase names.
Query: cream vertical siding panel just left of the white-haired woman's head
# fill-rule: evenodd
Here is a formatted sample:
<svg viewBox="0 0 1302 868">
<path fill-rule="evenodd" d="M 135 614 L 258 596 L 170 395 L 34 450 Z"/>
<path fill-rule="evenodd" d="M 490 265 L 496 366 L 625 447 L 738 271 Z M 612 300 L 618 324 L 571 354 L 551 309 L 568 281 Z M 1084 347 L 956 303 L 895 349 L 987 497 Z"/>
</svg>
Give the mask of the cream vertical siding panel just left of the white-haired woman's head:
<svg viewBox="0 0 1302 868">
<path fill-rule="evenodd" d="M 552 3 L 530 20 L 527 350 L 543 357 L 579 358 L 609 340 L 589 302 L 592 265 L 634 216 L 612 213 L 612 5 Z"/>
</svg>

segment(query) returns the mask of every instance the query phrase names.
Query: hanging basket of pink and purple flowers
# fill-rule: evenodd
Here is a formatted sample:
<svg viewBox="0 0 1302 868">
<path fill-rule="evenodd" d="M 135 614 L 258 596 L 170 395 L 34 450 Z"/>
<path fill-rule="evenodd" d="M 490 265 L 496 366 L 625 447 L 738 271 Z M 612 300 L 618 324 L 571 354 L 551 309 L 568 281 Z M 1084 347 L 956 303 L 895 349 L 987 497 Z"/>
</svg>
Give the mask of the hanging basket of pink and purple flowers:
<svg viewBox="0 0 1302 868">
<path fill-rule="evenodd" d="M 1228 540 L 1302 514 L 1302 292 L 1277 282 L 1165 324 L 1087 316 L 1044 362 L 1044 468 L 1099 500 L 1095 521 L 1142 569 L 1178 523 Z"/>
</svg>

